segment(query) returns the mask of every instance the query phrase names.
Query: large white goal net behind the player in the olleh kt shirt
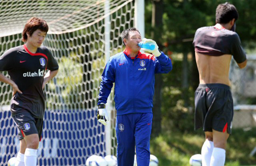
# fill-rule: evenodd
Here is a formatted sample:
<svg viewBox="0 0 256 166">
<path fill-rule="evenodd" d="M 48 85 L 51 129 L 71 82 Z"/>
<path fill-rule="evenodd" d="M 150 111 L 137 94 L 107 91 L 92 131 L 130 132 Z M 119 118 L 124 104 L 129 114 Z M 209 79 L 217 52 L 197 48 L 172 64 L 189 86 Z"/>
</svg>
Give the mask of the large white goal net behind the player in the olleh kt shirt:
<svg viewBox="0 0 256 166">
<path fill-rule="evenodd" d="M 0 54 L 23 45 L 22 31 L 32 16 L 50 27 L 44 45 L 59 64 L 59 72 L 45 88 L 46 112 L 38 165 L 85 165 L 95 154 L 115 155 L 113 93 L 109 97 L 111 122 L 97 122 L 97 98 L 106 60 L 124 49 L 120 34 L 134 26 L 133 0 L 2 0 Z M 7 72 L 2 72 L 8 76 Z M 19 150 L 17 128 L 10 114 L 12 89 L 0 83 L 0 165 Z M 105 148 L 105 140 L 110 145 Z M 108 152 L 107 152 L 108 151 Z"/>
</svg>

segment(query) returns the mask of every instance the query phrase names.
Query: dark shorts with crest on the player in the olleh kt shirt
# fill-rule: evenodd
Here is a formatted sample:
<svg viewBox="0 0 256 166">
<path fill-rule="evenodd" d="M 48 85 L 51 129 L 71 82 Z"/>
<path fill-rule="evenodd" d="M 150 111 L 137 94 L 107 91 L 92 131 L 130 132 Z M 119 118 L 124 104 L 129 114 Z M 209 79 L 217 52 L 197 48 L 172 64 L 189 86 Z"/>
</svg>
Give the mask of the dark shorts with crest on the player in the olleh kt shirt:
<svg viewBox="0 0 256 166">
<path fill-rule="evenodd" d="M 12 119 L 19 129 L 19 140 L 24 139 L 25 135 L 38 134 L 39 140 L 41 141 L 43 119 L 36 119 L 30 113 L 26 112 L 24 114 L 14 115 Z"/>
</svg>

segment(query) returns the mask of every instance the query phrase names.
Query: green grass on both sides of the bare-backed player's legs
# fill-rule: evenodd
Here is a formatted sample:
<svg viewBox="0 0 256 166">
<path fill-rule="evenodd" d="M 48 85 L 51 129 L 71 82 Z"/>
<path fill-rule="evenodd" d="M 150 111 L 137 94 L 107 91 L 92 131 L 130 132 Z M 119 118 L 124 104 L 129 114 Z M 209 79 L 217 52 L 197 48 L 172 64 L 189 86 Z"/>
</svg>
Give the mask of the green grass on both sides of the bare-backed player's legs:
<svg viewBox="0 0 256 166">
<path fill-rule="evenodd" d="M 189 158 L 201 153 L 203 143 L 203 131 L 194 133 L 165 131 L 151 140 L 151 154 L 158 157 L 159 166 L 189 165 Z M 246 131 L 232 129 L 226 149 L 225 165 L 256 165 L 256 154 L 249 156 L 255 146 L 256 128 Z"/>
</svg>

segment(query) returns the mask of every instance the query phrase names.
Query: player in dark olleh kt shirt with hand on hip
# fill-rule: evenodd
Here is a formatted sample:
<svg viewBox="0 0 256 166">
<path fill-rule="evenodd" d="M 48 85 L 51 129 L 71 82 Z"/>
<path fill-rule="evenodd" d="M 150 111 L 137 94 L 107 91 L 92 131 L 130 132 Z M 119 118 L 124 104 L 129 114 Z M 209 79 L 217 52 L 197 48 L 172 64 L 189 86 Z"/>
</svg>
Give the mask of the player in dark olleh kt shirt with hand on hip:
<svg viewBox="0 0 256 166">
<path fill-rule="evenodd" d="M 22 36 L 26 44 L 7 50 L 0 57 L 0 81 L 13 89 L 12 118 L 19 129 L 20 150 L 15 166 L 35 166 L 45 113 L 43 89 L 58 72 L 58 64 L 48 48 L 41 46 L 48 32 L 45 20 L 29 19 Z M 45 72 L 49 71 L 45 74 Z"/>
</svg>

